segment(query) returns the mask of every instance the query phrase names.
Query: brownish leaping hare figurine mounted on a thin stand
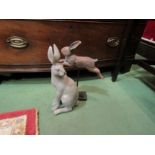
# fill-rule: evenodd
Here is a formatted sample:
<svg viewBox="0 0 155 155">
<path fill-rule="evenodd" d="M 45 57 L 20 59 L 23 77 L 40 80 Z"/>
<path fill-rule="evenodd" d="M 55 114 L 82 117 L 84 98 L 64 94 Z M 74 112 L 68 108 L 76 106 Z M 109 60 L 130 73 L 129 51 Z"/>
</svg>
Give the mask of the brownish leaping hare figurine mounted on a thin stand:
<svg viewBox="0 0 155 155">
<path fill-rule="evenodd" d="M 98 61 L 97 59 L 71 54 L 71 51 L 78 47 L 80 44 L 81 41 L 75 41 L 70 44 L 70 46 L 63 47 L 61 49 L 61 53 L 63 54 L 63 56 L 65 56 L 65 59 L 61 60 L 61 62 L 63 61 L 64 65 L 66 66 L 86 68 L 87 70 L 96 73 L 101 79 L 103 79 L 100 70 L 95 67 L 95 62 Z"/>
</svg>

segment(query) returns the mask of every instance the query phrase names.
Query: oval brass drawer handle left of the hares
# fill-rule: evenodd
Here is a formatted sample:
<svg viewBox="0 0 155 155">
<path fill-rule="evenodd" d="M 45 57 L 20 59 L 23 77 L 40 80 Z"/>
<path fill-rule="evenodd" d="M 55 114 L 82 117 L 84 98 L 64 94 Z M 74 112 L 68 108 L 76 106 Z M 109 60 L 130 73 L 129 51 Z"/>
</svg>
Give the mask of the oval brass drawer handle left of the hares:
<svg viewBox="0 0 155 155">
<path fill-rule="evenodd" d="M 28 41 L 19 36 L 11 36 L 7 38 L 6 42 L 13 48 L 25 48 L 28 46 Z"/>
</svg>

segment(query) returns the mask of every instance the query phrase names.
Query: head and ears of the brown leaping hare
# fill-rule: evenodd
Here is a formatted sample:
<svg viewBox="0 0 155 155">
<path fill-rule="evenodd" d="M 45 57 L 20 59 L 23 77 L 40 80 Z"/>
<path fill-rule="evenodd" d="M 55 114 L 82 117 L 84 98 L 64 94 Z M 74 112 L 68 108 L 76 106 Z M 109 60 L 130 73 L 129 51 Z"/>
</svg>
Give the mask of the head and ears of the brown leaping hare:
<svg viewBox="0 0 155 155">
<path fill-rule="evenodd" d="M 61 53 L 64 56 L 69 56 L 71 55 L 71 51 L 75 48 L 77 48 L 82 42 L 80 40 L 74 41 L 71 43 L 69 46 L 65 46 L 61 49 Z"/>
</svg>

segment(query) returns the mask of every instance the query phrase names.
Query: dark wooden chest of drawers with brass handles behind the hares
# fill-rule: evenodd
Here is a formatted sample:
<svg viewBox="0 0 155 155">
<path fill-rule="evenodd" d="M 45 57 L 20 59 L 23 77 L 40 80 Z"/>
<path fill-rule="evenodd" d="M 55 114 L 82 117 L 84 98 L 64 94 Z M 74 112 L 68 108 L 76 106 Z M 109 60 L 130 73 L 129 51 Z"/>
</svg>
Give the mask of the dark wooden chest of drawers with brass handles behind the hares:
<svg viewBox="0 0 155 155">
<path fill-rule="evenodd" d="M 60 49 L 75 40 L 82 41 L 74 51 L 77 55 L 98 58 L 98 66 L 115 66 L 121 50 L 126 52 L 125 57 L 134 56 L 142 34 L 143 21 L 132 21 L 134 26 L 130 23 L 130 20 L 0 20 L 0 72 L 49 72 L 48 46 L 56 43 Z"/>
</svg>

